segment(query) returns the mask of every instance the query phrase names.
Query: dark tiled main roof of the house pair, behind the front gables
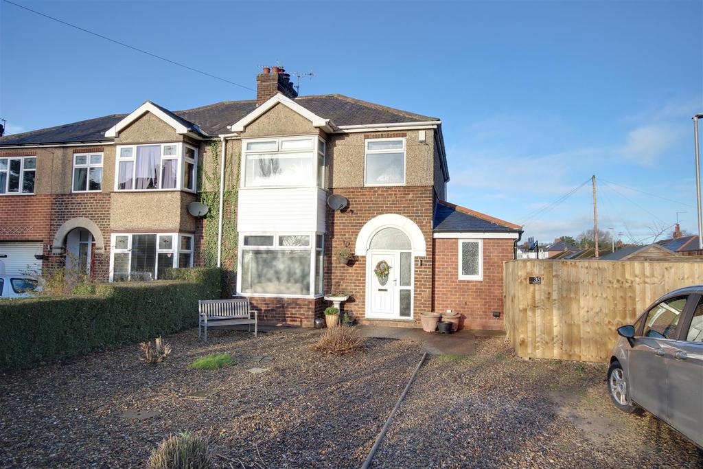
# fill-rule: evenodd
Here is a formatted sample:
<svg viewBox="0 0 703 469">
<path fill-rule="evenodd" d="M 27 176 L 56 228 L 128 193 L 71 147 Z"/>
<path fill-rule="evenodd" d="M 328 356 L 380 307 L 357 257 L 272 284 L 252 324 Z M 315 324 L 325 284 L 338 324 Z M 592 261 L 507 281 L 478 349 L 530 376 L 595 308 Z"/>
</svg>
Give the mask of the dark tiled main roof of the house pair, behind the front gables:
<svg viewBox="0 0 703 469">
<path fill-rule="evenodd" d="M 292 100 L 297 105 L 315 115 L 328 119 L 337 127 L 373 126 L 379 124 L 413 124 L 419 122 L 441 123 L 437 117 L 430 117 L 405 110 L 389 108 L 349 98 L 341 94 L 299 96 Z M 150 103 L 150 101 L 147 101 Z M 169 111 L 151 103 L 184 127 L 198 127 L 209 135 L 228 134 L 228 126 L 238 122 L 257 108 L 257 102 L 221 101 L 199 108 Z M 128 114 L 111 114 L 90 120 L 72 122 L 47 129 L 23 132 L 0 137 L 0 146 L 30 146 L 49 143 L 82 143 L 108 141 L 105 132 L 118 124 Z"/>
</svg>

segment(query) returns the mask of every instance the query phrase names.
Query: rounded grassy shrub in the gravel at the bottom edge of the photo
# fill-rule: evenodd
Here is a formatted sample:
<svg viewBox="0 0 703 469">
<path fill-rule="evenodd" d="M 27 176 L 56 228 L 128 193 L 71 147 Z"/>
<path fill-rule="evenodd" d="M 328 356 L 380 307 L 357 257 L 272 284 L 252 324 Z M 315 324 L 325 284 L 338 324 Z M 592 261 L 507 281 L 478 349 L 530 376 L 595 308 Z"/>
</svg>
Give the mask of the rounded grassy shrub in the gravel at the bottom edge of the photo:
<svg viewBox="0 0 703 469">
<path fill-rule="evenodd" d="M 183 432 L 164 439 L 151 452 L 148 469 L 205 469 L 210 467 L 207 439 Z"/>
</svg>

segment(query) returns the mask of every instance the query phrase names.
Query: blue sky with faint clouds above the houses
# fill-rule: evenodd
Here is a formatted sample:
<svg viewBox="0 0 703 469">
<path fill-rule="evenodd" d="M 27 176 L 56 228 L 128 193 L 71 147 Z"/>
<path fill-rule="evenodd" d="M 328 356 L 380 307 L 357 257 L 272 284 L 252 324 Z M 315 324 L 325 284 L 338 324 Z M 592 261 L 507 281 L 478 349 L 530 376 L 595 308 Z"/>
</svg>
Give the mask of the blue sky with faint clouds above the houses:
<svg viewBox="0 0 703 469">
<path fill-rule="evenodd" d="M 702 1 L 16 2 L 251 88 L 279 62 L 314 71 L 301 94 L 440 117 L 453 203 L 522 223 L 595 174 L 611 183 L 600 227 L 625 241 L 651 241 L 681 211 L 696 229 Z M 179 110 L 254 96 L 4 2 L 0 15 L 11 132 L 146 99 Z M 525 235 L 576 236 L 592 217 L 585 186 Z"/>
</svg>

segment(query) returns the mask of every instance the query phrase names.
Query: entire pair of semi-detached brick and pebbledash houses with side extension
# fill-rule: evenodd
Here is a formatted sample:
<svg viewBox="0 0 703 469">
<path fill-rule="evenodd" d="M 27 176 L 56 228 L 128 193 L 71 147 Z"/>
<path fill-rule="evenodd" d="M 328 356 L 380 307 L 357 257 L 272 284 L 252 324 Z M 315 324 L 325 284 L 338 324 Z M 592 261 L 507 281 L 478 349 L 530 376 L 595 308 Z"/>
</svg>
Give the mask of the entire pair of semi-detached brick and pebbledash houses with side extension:
<svg viewBox="0 0 703 469">
<path fill-rule="evenodd" d="M 147 101 L 1 138 L 0 255 L 8 272 L 65 262 L 104 281 L 202 265 L 219 220 L 188 206 L 221 185 L 236 191 L 223 212 L 238 237 L 222 262 L 265 321 L 311 326 L 323 293 L 348 290 L 361 322 L 418 326 L 420 312 L 451 309 L 466 327 L 502 329 L 503 262 L 521 228 L 444 202 L 447 181 L 439 119 L 298 97 L 273 68 L 256 100 L 175 112 Z M 346 206 L 332 210 L 331 195 Z"/>
</svg>

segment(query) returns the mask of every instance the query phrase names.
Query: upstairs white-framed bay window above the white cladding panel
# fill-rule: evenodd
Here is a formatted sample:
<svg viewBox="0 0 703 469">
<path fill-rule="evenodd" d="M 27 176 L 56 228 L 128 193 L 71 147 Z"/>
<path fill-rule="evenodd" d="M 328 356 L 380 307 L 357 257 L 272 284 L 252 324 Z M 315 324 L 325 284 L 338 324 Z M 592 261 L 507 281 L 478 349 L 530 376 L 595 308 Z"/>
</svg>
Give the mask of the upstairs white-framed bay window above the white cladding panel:
<svg viewBox="0 0 703 469">
<path fill-rule="evenodd" d="M 242 141 L 241 187 L 323 187 L 325 141 L 317 136 Z"/>
</svg>

